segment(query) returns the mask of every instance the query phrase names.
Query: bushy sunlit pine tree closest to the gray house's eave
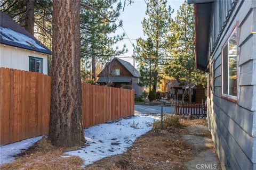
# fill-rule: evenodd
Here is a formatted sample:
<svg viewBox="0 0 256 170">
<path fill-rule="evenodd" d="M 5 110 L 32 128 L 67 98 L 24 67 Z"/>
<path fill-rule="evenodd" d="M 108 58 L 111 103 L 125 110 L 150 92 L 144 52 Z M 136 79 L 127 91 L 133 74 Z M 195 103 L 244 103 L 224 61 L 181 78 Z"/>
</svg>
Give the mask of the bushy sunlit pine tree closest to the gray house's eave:
<svg viewBox="0 0 256 170">
<path fill-rule="evenodd" d="M 191 103 L 193 83 L 205 86 L 206 82 L 206 75 L 195 69 L 194 6 L 184 2 L 170 26 L 168 40 L 173 45 L 168 49 L 171 62 L 165 67 L 165 73 L 188 87 Z"/>
</svg>

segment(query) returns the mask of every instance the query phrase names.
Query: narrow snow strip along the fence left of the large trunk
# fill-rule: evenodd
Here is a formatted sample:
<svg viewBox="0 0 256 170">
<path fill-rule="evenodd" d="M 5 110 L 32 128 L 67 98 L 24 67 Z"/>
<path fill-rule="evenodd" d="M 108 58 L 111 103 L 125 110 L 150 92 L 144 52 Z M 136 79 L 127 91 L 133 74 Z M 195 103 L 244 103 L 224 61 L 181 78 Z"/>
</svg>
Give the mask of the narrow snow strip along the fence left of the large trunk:
<svg viewBox="0 0 256 170">
<path fill-rule="evenodd" d="M 11 143 L 9 145 L 0 146 L 0 166 L 10 163 L 14 160 L 14 156 L 28 149 L 42 137 L 30 138 L 20 142 Z"/>
</svg>

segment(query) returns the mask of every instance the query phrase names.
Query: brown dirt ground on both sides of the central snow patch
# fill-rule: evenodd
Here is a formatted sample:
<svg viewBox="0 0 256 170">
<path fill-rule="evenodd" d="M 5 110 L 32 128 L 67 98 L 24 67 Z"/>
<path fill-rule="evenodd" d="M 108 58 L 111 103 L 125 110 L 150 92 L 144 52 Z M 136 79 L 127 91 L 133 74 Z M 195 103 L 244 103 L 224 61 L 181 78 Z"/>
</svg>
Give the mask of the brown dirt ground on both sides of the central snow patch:
<svg viewBox="0 0 256 170">
<path fill-rule="evenodd" d="M 124 154 L 101 159 L 85 168 L 78 157 L 65 157 L 62 150 L 27 151 L 1 169 L 198 169 L 211 165 L 221 169 L 205 120 L 181 120 L 182 128 L 151 130 L 138 138 Z M 203 169 L 203 168 L 201 168 Z M 204 168 L 207 169 L 207 168 Z"/>
</svg>

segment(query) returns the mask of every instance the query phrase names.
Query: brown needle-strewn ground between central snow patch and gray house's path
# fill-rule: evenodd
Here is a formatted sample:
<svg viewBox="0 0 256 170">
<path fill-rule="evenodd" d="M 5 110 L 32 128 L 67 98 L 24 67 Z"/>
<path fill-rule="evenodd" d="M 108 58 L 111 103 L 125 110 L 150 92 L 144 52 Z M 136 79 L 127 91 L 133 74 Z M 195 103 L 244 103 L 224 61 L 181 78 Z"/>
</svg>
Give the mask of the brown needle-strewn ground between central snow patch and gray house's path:
<svg viewBox="0 0 256 170">
<path fill-rule="evenodd" d="M 192 158 L 195 151 L 178 133 L 150 131 L 124 154 L 104 158 L 86 169 L 184 169 L 182 161 Z"/>
</svg>

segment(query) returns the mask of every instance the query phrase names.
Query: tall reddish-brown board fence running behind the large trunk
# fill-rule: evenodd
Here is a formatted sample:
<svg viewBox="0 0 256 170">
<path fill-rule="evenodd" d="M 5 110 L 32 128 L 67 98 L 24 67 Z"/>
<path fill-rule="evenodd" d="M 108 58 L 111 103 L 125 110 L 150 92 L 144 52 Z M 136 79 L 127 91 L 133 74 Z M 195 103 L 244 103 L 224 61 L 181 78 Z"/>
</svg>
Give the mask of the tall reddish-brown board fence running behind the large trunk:
<svg viewBox="0 0 256 170">
<path fill-rule="evenodd" d="M 47 134 L 51 77 L 0 67 L 0 145 Z M 82 83 L 83 126 L 134 115 L 134 90 Z"/>
</svg>

